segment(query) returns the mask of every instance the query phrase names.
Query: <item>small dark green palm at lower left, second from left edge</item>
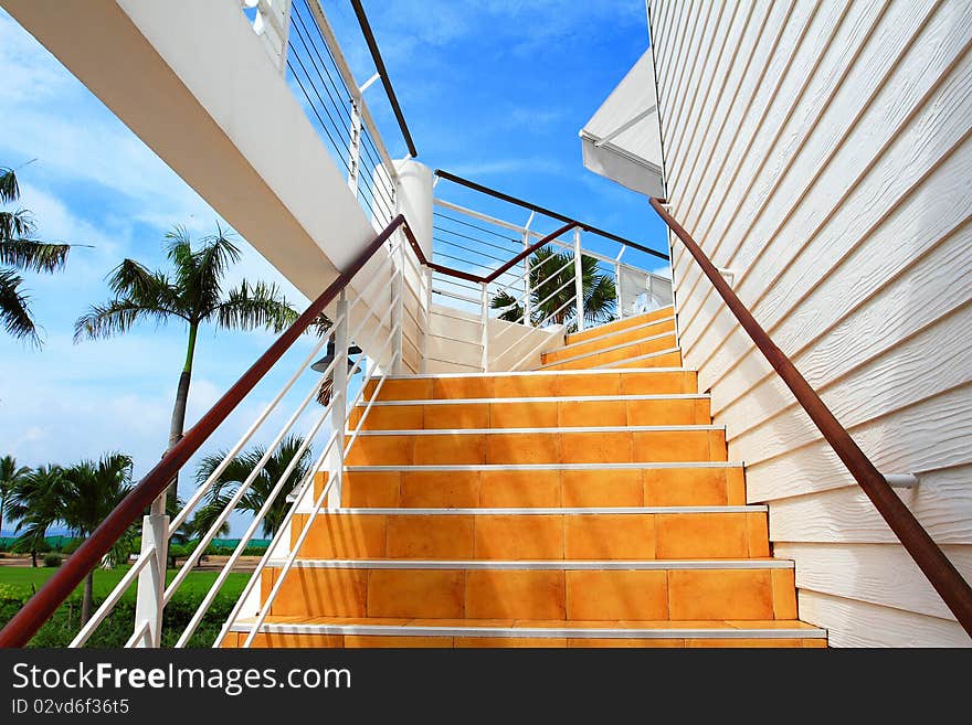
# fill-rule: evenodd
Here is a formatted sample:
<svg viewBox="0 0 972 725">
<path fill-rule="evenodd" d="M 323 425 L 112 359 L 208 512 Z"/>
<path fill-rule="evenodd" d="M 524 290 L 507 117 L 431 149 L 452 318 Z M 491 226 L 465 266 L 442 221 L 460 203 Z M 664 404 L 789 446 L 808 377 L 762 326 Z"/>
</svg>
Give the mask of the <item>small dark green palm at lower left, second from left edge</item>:
<svg viewBox="0 0 972 725">
<path fill-rule="evenodd" d="M 17 522 L 17 547 L 29 551 L 38 566 L 38 552 L 45 546 L 47 529 L 64 513 L 64 469 L 40 466 L 21 478 L 13 490 L 10 519 Z"/>
</svg>

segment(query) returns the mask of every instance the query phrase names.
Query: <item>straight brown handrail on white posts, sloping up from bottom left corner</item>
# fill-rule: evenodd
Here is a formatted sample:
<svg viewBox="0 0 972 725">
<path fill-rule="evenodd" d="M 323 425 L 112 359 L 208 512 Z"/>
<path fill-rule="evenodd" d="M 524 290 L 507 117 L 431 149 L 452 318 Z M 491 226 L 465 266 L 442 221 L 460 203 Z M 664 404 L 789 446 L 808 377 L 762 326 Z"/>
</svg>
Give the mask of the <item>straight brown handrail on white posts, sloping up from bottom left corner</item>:
<svg viewBox="0 0 972 725">
<path fill-rule="evenodd" d="M 108 553 L 115 542 L 155 501 L 169 482 L 228 415 L 263 379 L 266 372 L 284 355 L 310 326 L 314 319 L 330 305 L 348 282 L 357 275 L 374 253 L 400 226 L 405 224 L 401 214 L 384 227 L 371 244 L 341 271 L 321 295 L 304 310 L 304 313 L 250 366 L 233 386 L 203 415 L 186 436 L 125 497 L 95 532 L 54 573 L 46 584 L 18 611 L 0 631 L 0 647 L 23 647 L 71 593 L 82 583 Z M 408 230 L 408 225 L 405 227 Z"/>
</svg>

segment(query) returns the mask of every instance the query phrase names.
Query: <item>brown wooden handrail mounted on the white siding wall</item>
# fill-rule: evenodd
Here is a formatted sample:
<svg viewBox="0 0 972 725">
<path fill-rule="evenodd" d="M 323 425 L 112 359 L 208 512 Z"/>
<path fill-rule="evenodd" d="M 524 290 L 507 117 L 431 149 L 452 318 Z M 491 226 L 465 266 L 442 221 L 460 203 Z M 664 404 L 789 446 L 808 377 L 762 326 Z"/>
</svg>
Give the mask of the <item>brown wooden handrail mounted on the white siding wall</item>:
<svg viewBox="0 0 972 725">
<path fill-rule="evenodd" d="M 850 434 L 841 425 L 831 409 L 824 404 L 806 379 L 800 373 L 793 362 L 773 343 L 767 331 L 762 329 L 756 318 L 742 303 L 742 300 L 732 291 L 732 288 L 722 278 L 711 260 L 702 252 L 701 247 L 691 238 L 668 211 L 656 199 L 651 200 L 652 206 L 675 233 L 688 253 L 701 267 L 706 277 L 722 297 L 726 306 L 739 320 L 756 346 L 760 349 L 773 370 L 783 379 L 786 387 L 796 397 L 803 409 L 813 420 L 814 425 L 823 434 L 824 439 L 831 445 L 847 470 L 857 481 L 867 498 L 870 499 L 878 513 L 895 532 L 898 541 L 918 564 L 918 567 L 928 577 L 931 586 L 939 593 L 942 600 L 955 615 L 955 619 L 962 628 L 972 636 L 972 588 L 962 578 L 962 575 L 944 555 L 934 540 L 905 505 L 905 502 L 894 492 L 887 480 L 877 470 L 870 459 L 857 446 Z"/>
</svg>

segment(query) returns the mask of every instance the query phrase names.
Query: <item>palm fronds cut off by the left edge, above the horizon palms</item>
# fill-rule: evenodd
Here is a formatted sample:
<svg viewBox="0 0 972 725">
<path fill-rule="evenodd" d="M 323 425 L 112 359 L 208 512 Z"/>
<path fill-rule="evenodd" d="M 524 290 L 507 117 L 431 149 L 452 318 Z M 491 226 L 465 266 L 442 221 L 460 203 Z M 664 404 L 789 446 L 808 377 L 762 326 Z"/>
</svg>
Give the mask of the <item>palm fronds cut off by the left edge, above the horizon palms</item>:
<svg viewBox="0 0 972 725">
<path fill-rule="evenodd" d="M 0 203 L 20 199 L 13 169 L 0 168 Z M 11 335 L 40 346 L 41 338 L 30 311 L 30 297 L 21 289 L 18 269 L 52 273 L 64 267 L 67 244 L 49 244 L 32 238 L 36 231 L 33 215 L 25 209 L 0 211 L 0 323 Z"/>
</svg>

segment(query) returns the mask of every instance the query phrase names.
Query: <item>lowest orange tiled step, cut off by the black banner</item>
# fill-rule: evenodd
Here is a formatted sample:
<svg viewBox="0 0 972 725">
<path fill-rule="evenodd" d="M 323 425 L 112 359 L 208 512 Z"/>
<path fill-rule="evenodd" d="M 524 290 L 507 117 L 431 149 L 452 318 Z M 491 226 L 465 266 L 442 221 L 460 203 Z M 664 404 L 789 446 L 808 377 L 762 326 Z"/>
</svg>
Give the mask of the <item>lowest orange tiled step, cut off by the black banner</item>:
<svg viewBox="0 0 972 725">
<path fill-rule="evenodd" d="M 252 620 L 222 647 L 242 647 Z M 567 621 L 267 617 L 253 647 L 826 647 L 826 631 L 799 620 Z"/>
</svg>

